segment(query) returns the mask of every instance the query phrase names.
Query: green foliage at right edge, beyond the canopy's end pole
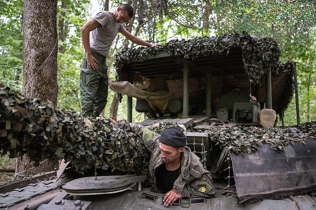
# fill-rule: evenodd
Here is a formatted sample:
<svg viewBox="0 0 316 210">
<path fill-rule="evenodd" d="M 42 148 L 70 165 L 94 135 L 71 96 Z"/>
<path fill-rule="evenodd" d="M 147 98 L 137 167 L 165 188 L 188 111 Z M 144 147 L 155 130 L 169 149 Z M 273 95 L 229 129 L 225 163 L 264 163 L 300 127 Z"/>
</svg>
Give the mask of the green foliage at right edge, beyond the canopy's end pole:
<svg viewBox="0 0 316 210">
<path fill-rule="evenodd" d="M 305 37 L 293 38 L 284 44 L 286 54 L 282 59 L 292 59 L 296 62 L 298 76 L 298 96 L 301 122 L 315 120 L 316 117 L 316 30 L 313 29 Z M 308 107 L 309 106 L 309 110 Z M 296 115 L 295 100 L 293 98 L 289 109 L 285 112 L 284 121 L 287 125 L 297 124 L 293 116 Z"/>
</svg>

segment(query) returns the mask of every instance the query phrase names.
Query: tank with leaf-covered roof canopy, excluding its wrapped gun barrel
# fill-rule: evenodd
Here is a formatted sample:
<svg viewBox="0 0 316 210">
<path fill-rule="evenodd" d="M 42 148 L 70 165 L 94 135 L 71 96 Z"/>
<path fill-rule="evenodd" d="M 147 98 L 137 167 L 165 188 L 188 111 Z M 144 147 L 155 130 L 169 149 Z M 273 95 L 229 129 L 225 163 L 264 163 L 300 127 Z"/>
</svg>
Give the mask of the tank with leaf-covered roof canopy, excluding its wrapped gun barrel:
<svg viewBox="0 0 316 210">
<path fill-rule="evenodd" d="M 255 135 L 260 129 L 267 131 L 262 128 L 262 110 L 275 111 L 283 124 L 284 110 L 297 89 L 295 63 L 279 62 L 279 49 L 272 39 L 235 33 L 174 40 L 154 49 L 123 50 L 117 55 L 116 68 L 118 81 L 110 87 L 128 96 L 128 121 L 133 122 L 135 97 L 136 110 L 146 115 L 140 124 L 152 128 L 176 123 L 185 128 L 187 145 L 212 173 L 215 196 L 183 198 L 164 206 L 164 195 L 151 192 L 144 175 L 74 178 L 64 173 L 67 164 L 63 163 L 58 181 L 3 192 L 0 206 L 41 210 L 316 209 L 312 194 L 316 142 L 307 138 L 301 139 L 304 144 L 276 143 L 274 148 L 278 138 L 291 141 L 294 137 Z M 250 100 L 251 95 L 255 101 Z M 273 127 L 276 115 L 269 117 Z M 231 129 L 227 138 L 225 129 Z M 237 144 L 243 138 L 248 144 L 241 151 Z"/>
</svg>

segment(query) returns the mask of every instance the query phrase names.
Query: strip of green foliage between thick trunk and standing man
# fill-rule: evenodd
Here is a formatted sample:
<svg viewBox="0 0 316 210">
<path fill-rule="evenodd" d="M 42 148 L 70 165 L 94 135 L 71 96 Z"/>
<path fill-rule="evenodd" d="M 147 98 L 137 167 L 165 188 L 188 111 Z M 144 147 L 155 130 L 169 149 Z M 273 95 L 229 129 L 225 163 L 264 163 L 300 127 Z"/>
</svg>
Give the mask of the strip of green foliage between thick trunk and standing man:
<svg viewBox="0 0 316 210">
<path fill-rule="evenodd" d="M 64 21 L 64 31 L 59 30 L 59 33 L 63 32 L 65 36 L 64 42 L 59 40 L 64 52 L 58 53 L 58 106 L 75 111 L 81 110 L 79 80 L 84 49 L 80 27 L 86 22 L 89 3 L 89 0 L 63 0 L 58 3 L 58 20 Z"/>
</svg>

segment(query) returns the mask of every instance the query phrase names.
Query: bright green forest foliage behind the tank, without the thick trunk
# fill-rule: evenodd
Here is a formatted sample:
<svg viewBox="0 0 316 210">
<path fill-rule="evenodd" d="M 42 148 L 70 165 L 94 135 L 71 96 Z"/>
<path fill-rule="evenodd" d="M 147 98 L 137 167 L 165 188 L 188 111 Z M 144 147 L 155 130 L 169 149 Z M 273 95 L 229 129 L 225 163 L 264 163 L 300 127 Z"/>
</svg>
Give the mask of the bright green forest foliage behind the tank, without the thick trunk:
<svg viewBox="0 0 316 210">
<path fill-rule="evenodd" d="M 297 63 L 298 95 L 301 122 L 316 119 L 315 46 L 316 17 L 314 1 L 160 1 L 129 2 L 136 10 L 125 26 L 132 34 L 149 42 L 164 44 L 172 39 L 192 39 L 221 33 L 247 31 L 259 38 L 274 38 L 281 49 L 281 61 Z M 97 12 L 114 11 L 120 1 L 59 0 L 58 32 L 58 100 L 57 106 L 81 111 L 79 92 L 80 63 L 84 49 L 80 27 Z M 167 8 L 168 6 L 168 8 Z M 23 81 L 23 1 L 0 1 L 0 83 L 22 92 Z M 201 10 L 201 8 L 206 8 Z M 39 8 L 40 9 L 40 8 Z M 206 17 L 206 19 L 205 19 Z M 115 54 L 126 47 L 137 47 L 119 35 L 114 41 L 107 63 L 110 81 L 115 78 Z M 47 87 L 43 87 L 47 88 Z M 109 90 L 104 116 L 111 116 L 115 95 Z M 34 95 L 36 97 L 36 95 Z M 135 102 L 133 103 L 135 106 Z M 296 124 L 295 97 L 285 110 L 285 125 Z M 119 104 L 117 118 L 127 117 L 126 97 Z M 133 113 L 133 121 L 144 119 Z"/>
</svg>

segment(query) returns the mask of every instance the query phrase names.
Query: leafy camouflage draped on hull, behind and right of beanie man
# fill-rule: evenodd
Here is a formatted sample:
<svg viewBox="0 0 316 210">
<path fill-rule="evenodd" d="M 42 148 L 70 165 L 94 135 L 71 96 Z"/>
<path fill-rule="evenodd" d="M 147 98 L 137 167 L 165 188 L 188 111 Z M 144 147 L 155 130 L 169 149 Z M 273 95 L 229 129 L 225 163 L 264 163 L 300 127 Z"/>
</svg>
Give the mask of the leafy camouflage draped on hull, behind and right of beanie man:
<svg viewBox="0 0 316 210">
<path fill-rule="evenodd" d="M 166 128 L 176 126 L 175 123 L 159 123 L 158 127 L 151 128 L 155 133 L 161 133 Z M 234 154 L 252 154 L 258 151 L 264 144 L 270 144 L 270 148 L 276 151 L 283 151 L 284 146 L 295 142 L 304 143 L 306 138 L 316 138 L 316 122 L 303 123 L 296 128 L 261 128 L 261 127 L 211 127 L 208 131 L 210 141 L 226 147 Z"/>
</svg>

